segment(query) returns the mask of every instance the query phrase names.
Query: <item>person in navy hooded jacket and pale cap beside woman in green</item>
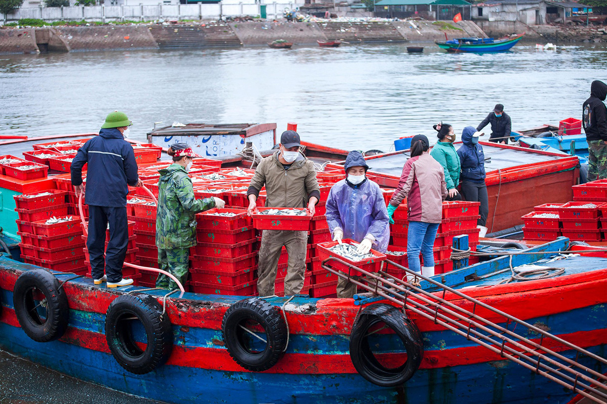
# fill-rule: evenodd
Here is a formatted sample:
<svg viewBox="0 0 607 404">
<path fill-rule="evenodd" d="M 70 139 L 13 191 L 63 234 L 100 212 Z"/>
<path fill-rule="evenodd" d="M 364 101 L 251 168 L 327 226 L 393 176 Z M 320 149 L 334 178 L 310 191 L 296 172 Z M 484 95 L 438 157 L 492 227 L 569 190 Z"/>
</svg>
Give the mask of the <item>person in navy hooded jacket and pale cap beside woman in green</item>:
<svg viewBox="0 0 607 404">
<path fill-rule="evenodd" d="M 476 224 L 484 227 L 489 214 L 489 197 L 485 184 L 485 155 L 483 146 L 478 144 L 480 136 L 483 135 L 484 133 L 476 131 L 472 126 L 465 127 L 461 133 L 461 141 L 464 144 L 458 148 L 457 154 L 461 162 L 461 194 L 464 200 L 481 202 L 481 218 Z"/>
</svg>

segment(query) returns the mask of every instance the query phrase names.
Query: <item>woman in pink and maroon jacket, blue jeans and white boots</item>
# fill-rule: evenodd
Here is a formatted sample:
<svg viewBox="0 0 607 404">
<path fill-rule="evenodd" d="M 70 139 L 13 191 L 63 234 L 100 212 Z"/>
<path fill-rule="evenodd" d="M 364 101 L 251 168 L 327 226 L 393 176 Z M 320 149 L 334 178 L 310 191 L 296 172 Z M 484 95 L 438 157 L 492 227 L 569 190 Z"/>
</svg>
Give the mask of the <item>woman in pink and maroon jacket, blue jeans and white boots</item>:
<svg viewBox="0 0 607 404">
<path fill-rule="evenodd" d="M 411 157 L 402 168 L 398 187 L 388 204 L 390 223 L 392 215 L 407 198 L 407 257 L 409 269 L 424 276 L 434 276 L 434 239 L 443 215 L 443 200 L 447 197 L 447 185 L 443 167 L 428 153 L 428 138 L 418 134 L 411 141 Z M 424 257 L 420 268 L 419 252 Z"/>
</svg>

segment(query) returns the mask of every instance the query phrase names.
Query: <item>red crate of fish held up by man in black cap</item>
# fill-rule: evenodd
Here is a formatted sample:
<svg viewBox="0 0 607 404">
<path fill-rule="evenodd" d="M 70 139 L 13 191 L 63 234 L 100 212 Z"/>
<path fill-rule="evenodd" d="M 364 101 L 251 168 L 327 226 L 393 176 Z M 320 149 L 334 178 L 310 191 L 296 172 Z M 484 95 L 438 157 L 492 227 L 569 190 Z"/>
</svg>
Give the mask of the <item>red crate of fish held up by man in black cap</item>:
<svg viewBox="0 0 607 404">
<path fill-rule="evenodd" d="M 251 217 L 257 230 L 308 230 L 312 219 L 307 208 L 257 208 Z"/>
</svg>

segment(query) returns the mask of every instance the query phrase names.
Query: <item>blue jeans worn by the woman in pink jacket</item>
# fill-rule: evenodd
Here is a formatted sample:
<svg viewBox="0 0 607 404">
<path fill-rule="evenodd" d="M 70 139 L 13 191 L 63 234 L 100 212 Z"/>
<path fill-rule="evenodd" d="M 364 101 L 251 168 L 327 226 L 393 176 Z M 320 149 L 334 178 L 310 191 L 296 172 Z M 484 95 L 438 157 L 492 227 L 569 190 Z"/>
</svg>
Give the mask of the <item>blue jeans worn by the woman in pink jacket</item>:
<svg viewBox="0 0 607 404">
<path fill-rule="evenodd" d="M 409 269 L 421 272 L 419 252 L 424 257 L 424 267 L 434 267 L 434 239 L 438 231 L 438 223 L 409 222 L 407 231 L 407 260 Z"/>
</svg>

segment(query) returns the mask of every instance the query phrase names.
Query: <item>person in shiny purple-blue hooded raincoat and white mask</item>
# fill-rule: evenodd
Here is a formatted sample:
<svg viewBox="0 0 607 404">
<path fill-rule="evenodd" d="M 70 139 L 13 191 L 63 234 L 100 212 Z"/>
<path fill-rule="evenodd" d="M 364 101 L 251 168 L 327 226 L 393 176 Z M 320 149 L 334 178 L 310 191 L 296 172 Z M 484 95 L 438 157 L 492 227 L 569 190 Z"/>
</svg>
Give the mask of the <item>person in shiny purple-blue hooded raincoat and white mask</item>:
<svg viewBox="0 0 607 404">
<path fill-rule="evenodd" d="M 358 243 L 356 250 L 363 254 L 371 248 L 385 253 L 390 241 L 390 219 L 379 185 L 367 178 L 368 168 L 360 151 L 348 153 L 346 177 L 331 187 L 325 216 L 334 241 L 353 240 Z M 337 279 L 337 297 L 353 297 L 355 293 L 354 283 Z"/>
</svg>

